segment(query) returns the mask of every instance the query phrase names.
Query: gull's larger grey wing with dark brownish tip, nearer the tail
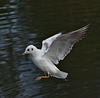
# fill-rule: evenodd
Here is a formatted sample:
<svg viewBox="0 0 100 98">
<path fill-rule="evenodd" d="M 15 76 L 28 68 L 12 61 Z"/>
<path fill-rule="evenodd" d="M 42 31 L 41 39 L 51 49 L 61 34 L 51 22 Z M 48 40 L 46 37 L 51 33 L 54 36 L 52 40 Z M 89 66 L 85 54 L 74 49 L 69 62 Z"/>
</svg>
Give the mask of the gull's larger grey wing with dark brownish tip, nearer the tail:
<svg viewBox="0 0 100 98">
<path fill-rule="evenodd" d="M 54 64 L 58 64 L 71 51 L 73 45 L 88 33 L 88 28 L 89 25 L 66 34 L 61 34 L 52 42 L 44 57 L 51 60 Z"/>
</svg>

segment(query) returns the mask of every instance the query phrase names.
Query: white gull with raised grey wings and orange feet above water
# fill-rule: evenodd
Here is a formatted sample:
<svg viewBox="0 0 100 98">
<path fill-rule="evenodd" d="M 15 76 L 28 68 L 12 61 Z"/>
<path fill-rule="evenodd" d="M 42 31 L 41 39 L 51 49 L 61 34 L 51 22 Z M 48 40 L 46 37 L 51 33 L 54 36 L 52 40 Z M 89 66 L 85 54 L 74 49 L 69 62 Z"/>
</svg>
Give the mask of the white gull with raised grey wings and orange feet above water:
<svg viewBox="0 0 100 98">
<path fill-rule="evenodd" d="M 69 33 L 64 31 L 55 34 L 42 41 L 41 49 L 37 49 L 34 45 L 27 46 L 22 55 L 29 54 L 33 63 L 45 74 L 37 77 L 35 81 L 50 76 L 68 80 L 68 73 L 59 70 L 55 65 L 70 53 L 76 42 L 89 33 L 88 29 L 89 25 L 86 25 Z"/>
</svg>

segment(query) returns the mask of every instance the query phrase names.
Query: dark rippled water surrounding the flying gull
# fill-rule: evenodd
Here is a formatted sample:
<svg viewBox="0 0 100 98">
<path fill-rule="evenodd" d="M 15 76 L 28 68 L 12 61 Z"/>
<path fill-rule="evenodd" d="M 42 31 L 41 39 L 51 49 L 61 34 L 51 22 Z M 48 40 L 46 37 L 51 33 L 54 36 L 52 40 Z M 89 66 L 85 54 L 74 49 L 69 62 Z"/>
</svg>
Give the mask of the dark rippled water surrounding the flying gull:
<svg viewBox="0 0 100 98">
<path fill-rule="evenodd" d="M 43 72 L 29 56 L 29 44 L 91 23 L 58 68 L 69 81 L 33 81 Z M 0 0 L 0 98 L 100 98 L 100 0 Z"/>
</svg>

